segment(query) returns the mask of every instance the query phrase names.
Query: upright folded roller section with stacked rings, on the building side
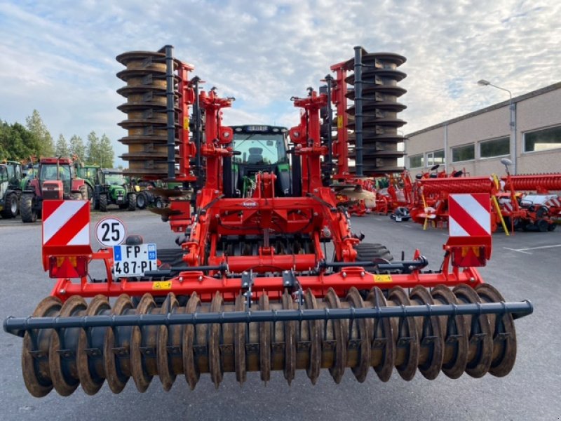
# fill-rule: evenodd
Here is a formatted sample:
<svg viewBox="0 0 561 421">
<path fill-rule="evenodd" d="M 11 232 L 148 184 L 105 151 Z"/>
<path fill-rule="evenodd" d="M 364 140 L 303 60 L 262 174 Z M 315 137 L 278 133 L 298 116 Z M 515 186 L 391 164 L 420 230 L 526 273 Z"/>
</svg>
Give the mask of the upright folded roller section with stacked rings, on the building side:
<svg viewBox="0 0 561 421">
<path fill-rule="evenodd" d="M 379 175 L 398 172 L 398 158 L 405 152 L 398 151 L 403 135 L 398 128 L 405 121 L 398 119 L 398 112 L 405 105 L 398 98 L 406 91 L 397 86 L 405 73 L 397 70 L 405 57 L 393 53 L 367 53 L 362 47 L 355 48 L 355 58 L 346 62 L 346 69 L 353 71 L 346 77 L 354 89 L 346 98 L 354 101 L 347 109 L 349 124 L 349 158 L 355 161 L 349 171 L 357 176 Z M 360 147 L 362 146 L 362 149 Z"/>
</svg>

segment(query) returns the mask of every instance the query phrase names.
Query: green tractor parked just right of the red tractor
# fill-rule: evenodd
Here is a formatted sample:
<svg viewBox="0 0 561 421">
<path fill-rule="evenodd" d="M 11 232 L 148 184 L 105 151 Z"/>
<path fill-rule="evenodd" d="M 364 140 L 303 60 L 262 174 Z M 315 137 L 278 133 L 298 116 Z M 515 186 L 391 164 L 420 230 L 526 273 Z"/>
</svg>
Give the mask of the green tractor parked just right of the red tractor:
<svg viewBox="0 0 561 421">
<path fill-rule="evenodd" d="M 119 168 L 98 168 L 93 190 L 93 207 L 107 212 L 109 205 L 136 210 L 136 192 Z"/>
</svg>

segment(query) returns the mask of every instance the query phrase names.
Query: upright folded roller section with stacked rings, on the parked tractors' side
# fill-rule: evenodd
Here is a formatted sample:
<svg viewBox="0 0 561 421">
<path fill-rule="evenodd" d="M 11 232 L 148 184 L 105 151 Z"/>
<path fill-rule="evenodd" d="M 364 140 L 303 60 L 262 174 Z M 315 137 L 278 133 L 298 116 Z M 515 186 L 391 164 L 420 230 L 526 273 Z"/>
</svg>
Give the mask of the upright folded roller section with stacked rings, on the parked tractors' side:
<svg viewBox="0 0 561 421">
<path fill-rule="evenodd" d="M 118 55 L 116 60 L 126 66 L 117 73 L 127 83 L 117 91 L 127 99 L 117 107 L 127 114 L 127 119 L 119 123 L 128 131 L 125 138 L 119 139 L 128 146 L 128 152 L 120 156 L 129 162 L 124 172 L 145 178 L 168 178 L 168 163 L 172 161 L 173 165 L 179 159 L 175 151 L 179 144 L 176 62 L 168 57 L 168 65 L 174 67 L 168 69 L 166 53 L 161 51 L 130 51 Z M 170 119 L 173 123 L 168 124 Z"/>
</svg>

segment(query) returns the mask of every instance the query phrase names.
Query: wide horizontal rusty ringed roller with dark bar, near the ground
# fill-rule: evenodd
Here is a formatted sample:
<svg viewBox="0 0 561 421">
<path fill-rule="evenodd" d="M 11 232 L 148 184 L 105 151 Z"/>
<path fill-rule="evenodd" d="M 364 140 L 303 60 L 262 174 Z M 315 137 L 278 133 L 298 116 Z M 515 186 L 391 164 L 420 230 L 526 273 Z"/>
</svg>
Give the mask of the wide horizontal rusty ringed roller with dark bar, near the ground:
<svg viewBox="0 0 561 421">
<path fill-rule="evenodd" d="M 487 303 L 502 304 L 492 314 Z M 518 303 L 518 310 L 528 312 L 526 304 Z M 162 305 L 146 294 L 137 307 L 125 294 L 113 306 L 103 295 L 89 304 L 76 295 L 64 303 L 48 297 L 27 328 L 17 330 L 21 321 L 7 319 L 5 329 L 24 335 L 23 376 L 36 397 L 52 389 L 69 396 L 79 385 L 95 394 L 105 380 L 119 393 L 130 377 L 139 392 L 154 376 L 169 390 L 184 375 L 194 389 L 203 373 L 215 387 L 227 372 L 242 384 L 248 372 L 258 371 L 268 382 L 277 370 L 289 384 L 297 370 L 306 370 L 315 384 L 323 369 L 339 383 L 346 368 L 359 382 L 370 368 L 382 382 L 393 368 L 403 380 L 412 380 L 417 370 L 429 380 L 441 371 L 454 379 L 464 372 L 501 377 L 515 361 L 513 314 L 487 284 L 418 286 L 410 293 L 395 287 L 386 294 L 350 288 L 345 298 L 330 289 L 323 300 L 310 290 L 301 300 L 286 292 L 279 300 L 263 294 L 247 308 L 245 295 L 224 302 L 220 293 L 210 305 L 195 293 L 185 306 L 173 293 Z M 416 310 L 425 315 L 409 315 Z M 41 321 L 58 327 L 36 328 Z"/>
</svg>

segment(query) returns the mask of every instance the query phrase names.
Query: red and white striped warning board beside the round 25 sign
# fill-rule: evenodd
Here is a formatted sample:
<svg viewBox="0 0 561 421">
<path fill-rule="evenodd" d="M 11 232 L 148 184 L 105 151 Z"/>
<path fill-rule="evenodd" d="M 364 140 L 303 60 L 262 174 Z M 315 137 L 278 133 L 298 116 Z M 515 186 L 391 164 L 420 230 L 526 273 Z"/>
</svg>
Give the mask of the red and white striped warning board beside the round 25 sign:
<svg viewBox="0 0 561 421">
<path fill-rule="evenodd" d="M 43 201 L 43 246 L 89 246 L 89 244 L 89 201 Z"/>
</svg>

